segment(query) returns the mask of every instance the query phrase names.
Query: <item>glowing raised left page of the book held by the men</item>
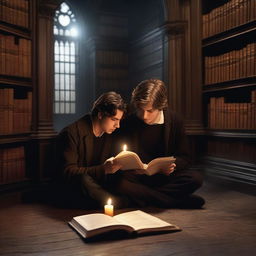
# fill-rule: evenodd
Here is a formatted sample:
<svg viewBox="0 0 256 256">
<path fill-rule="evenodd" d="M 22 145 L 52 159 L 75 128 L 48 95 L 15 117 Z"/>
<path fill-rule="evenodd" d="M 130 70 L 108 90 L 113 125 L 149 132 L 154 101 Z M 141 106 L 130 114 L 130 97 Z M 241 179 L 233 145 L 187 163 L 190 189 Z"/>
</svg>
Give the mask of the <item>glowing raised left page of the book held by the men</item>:
<svg viewBox="0 0 256 256">
<path fill-rule="evenodd" d="M 132 151 L 122 151 L 116 157 L 117 163 L 122 165 L 121 170 L 144 169 L 139 156 Z"/>
</svg>

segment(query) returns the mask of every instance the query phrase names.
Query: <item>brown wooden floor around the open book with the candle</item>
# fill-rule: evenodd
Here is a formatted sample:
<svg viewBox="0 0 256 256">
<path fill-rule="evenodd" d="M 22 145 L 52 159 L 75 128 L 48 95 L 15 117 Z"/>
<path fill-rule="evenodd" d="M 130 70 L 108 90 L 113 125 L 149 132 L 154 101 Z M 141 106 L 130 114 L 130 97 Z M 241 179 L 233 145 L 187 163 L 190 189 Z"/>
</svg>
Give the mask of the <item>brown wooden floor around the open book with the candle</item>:
<svg viewBox="0 0 256 256">
<path fill-rule="evenodd" d="M 181 232 L 91 242 L 67 224 L 86 211 L 22 203 L 19 194 L 2 195 L 0 255 L 256 255 L 255 194 L 245 192 L 207 181 L 197 193 L 207 201 L 204 209 L 143 209 L 177 224 Z"/>
</svg>

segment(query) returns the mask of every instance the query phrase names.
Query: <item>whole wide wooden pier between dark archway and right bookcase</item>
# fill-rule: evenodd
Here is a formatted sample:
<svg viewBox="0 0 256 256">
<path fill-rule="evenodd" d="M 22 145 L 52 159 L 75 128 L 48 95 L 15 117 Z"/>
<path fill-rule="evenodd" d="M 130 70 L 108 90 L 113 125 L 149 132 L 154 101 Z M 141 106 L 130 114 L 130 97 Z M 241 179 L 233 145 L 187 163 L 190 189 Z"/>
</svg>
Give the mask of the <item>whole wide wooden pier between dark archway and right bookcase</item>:
<svg viewBox="0 0 256 256">
<path fill-rule="evenodd" d="M 203 133 L 200 0 L 165 0 L 164 79 L 188 134 Z"/>
</svg>

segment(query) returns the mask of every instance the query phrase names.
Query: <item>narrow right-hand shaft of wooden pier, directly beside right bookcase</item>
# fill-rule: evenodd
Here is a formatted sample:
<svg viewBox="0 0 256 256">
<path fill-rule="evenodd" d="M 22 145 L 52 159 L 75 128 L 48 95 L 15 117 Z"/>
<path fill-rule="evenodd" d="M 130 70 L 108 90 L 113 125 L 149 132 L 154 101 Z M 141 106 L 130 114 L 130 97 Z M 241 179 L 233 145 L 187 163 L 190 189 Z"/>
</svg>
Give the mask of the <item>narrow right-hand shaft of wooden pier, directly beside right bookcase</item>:
<svg viewBox="0 0 256 256">
<path fill-rule="evenodd" d="M 203 134 L 202 122 L 202 57 L 200 0 L 184 1 L 186 30 L 185 83 L 186 128 L 189 134 Z"/>
</svg>

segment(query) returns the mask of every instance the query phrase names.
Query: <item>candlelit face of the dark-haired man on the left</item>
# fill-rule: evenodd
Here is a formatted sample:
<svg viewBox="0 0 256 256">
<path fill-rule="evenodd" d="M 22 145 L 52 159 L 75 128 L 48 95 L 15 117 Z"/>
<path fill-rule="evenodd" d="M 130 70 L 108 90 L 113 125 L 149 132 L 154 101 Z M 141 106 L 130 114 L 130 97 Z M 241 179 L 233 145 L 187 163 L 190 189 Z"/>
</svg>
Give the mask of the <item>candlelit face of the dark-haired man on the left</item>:
<svg viewBox="0 0 256 256">
<path fill-rule="evenodd" d="M 115 129 L 120 127 L 120 120 L 123 117 L 124 112 L 117 109 L 115 116 L 106 116 L 100 119 L 100 126 L 102 132 L 111 134 Z"/>
</svg>

